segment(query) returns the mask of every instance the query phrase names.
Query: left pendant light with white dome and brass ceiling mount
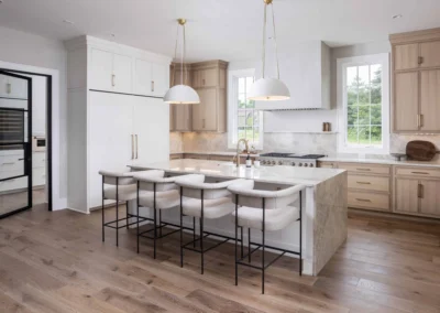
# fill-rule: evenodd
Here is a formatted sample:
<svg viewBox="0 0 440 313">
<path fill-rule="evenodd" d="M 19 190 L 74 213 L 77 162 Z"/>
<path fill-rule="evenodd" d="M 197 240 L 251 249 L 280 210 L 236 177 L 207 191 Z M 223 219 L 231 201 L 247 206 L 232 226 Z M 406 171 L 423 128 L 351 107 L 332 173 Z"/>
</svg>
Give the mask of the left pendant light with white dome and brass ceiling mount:
<svg viewBox="0 0 440 313">
<path fill-rule="evenodd" d="M 178 30 L 179 26 L 183 29 L 183 36 L 184 36 L 184 42 L 182 45 L 182 60 L 180 60 L 180 85 L 173 86 L 168 89 L 168 91 L 164 96 L 164 101 L 167 104 L 173 104 L 173 105 L 197 105 L 200 104 L 200 98 L 199 95 L 195 89 L 186 85 L 186 75 L 184 74 L 184 69 L 186 69 L 186 66 L 184 67 L 185 63 L 185 19 L 178 19 L 177 20 L 177 36 L 176 36 L 176 47 L 175 47 L 175 58 L 177 57 L 177 42 L 178 42 Z M 175 71 L 174 71 L 175 72 Z M 174 85 L 174 77 L 173 76 L 173 85 Z M 184 80 L 185 79 L 185 80 Z"/>
</svg>

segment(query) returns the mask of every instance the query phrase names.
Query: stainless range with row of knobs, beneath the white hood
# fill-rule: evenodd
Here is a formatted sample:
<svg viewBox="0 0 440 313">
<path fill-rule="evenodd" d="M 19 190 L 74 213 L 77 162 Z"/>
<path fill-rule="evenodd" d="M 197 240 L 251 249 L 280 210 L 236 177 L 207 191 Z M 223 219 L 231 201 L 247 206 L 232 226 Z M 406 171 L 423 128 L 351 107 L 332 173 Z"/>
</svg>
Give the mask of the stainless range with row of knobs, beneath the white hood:
<svg viewBox="0 0 440 313">
<path fill-rule="evenodd" d="M 316 168 L 317 160 L 323 158 L 323 154 L 296 154 L 296 153 L 263 153 L 260 154 L 262 165 L 288 165 L 288 166 L 304 166 Z"/>
</svg>

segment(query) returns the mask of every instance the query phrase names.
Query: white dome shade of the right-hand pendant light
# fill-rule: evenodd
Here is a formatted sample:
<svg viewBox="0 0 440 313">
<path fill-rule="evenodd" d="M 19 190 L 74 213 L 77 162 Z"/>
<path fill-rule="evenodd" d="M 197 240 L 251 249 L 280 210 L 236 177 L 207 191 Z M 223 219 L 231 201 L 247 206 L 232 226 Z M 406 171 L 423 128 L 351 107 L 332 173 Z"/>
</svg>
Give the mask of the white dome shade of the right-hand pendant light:
<svg viewBox="0 0 440 313">
<path fill-rule="evenodd" d="M 286 84 L 277 78 L 260 78 L 252 86 L 248 99 L 257 101 L 278 101 L 290 98 Z"/>
</svg>

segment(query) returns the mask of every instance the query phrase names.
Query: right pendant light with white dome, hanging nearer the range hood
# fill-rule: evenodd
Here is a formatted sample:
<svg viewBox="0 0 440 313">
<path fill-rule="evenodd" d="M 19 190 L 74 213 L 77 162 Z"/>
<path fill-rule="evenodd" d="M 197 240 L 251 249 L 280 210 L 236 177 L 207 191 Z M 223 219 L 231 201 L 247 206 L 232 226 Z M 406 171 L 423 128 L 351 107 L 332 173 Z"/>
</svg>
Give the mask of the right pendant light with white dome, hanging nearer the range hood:
<svg viewBox="0 0 440 313">
<path fill-rule="evenodd" d="M 279 64 L 278 64 L 278 50 L 276 44 L 276 32 L 275 32 L 275 14 L 273 0 L 264 1 L 264 26 L 263 26 L 263 74 L 262 78 L 256 80 L 249 93 L 248 99 L 258 101 L 277 101 L 287 100 L 290 98 L 290 93 L 282 80 L 279 80 Z M 267 21 L 267 7 L 272 6 L 272 22 L 274 25 L 274 41 L 275 41 L 275 57 L 276 57 L 276 78 L 264 77 L 264 71 L 266 66 L 266 21 Z"/>
</svg>

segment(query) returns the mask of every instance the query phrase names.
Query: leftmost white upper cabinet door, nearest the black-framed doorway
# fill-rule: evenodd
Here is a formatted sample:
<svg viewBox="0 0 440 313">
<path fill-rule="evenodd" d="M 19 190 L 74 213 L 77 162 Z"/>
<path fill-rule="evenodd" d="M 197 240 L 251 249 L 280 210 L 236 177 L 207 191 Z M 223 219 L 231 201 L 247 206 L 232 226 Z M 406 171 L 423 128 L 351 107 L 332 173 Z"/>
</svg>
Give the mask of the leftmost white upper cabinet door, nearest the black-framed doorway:
<svg viewBox="0 0 440 313">
<path fill-rule="evenodd" d="M 113 88 L 113 54 L 108 51 L 91 48 L 90 55 L 90 88 L 111 91 Z"/>
</svg>

